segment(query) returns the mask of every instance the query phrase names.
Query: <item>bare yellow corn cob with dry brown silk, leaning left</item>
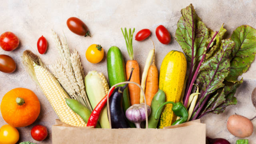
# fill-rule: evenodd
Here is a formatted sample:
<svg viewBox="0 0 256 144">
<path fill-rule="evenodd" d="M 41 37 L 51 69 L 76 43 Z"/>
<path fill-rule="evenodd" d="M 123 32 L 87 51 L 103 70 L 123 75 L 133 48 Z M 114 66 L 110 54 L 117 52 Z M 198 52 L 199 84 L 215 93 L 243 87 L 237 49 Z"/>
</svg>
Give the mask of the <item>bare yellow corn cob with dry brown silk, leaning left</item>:
<svg viewBox="0 0 256 144">
<path fill-rule="evenodd" d="M 22 62 L 32 80 L 41 88 L 60 120 L 72 126 L 86 126 L 84 120 L 66 104 L 65 98 L 69 98 L 69 96 L 44 66 L 40 58 L 30 50 L 26 50 L 23 52 Z"/>
</svg>

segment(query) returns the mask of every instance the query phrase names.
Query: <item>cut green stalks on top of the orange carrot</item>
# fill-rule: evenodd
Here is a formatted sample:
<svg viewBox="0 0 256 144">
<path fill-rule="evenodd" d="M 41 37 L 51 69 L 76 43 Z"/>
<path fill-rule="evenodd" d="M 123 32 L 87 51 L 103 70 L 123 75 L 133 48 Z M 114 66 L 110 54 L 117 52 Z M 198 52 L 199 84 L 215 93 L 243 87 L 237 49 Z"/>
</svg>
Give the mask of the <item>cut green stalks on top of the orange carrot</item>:
<svg viewBox="0 0 256 144">
<path fill-rule="evenodd" d="M 124 28 L 124 31 L 123 29 L 121 28 L 122 30 L 122 33 L 124 35 L 124 39 L 125 39 L 125 42 L 126 42 L 126 47 L 127 47 L 127 50 L 128 50 L 128 54 L 129 54 L 129 57 L 130 57 L 130 60 L 133 60 L 133 49 L 132 49 L 132 36 L 133 36 L 133 33 L 135 31 L 135 28 L 133 30 L 131 30 L 131 28 L 129 29 L 129 35 L 128 35 L 128 32 L 127 32 L 127 29 Z"/>
</svg>

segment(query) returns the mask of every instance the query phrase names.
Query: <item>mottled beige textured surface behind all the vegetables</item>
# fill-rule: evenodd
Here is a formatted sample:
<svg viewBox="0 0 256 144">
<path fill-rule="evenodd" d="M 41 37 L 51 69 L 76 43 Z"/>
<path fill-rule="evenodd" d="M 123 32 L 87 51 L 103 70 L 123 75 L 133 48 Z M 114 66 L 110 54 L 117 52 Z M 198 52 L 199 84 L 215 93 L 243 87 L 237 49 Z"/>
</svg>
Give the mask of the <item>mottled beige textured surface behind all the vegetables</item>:
<svg viewBox="0 0 256 144">
<path fill-rule="evenodd" d="M 39 54 L 36 43 L 42 35 L 48 40 L 48 51 L 40 55 L 40 58 L 46 64 L 52 64 L 58 58 L 51 29 L 59 36 L 63 34 L 62 31 L 65 33 L 71 51 L 78 50 L 86 73 L 90 70 L 98 70 L 107 76 L 106 56 L 102 62 L 91 64 L 85 57 L 88 46 L 101 44 L 105 55 L 108 48 L 118 46 L 127 61 L 129 56 L 120 28 L 136 28 L 135 34 L 138 30 L 148 28 L 156 45 L 156 66 L 160 70 L 162 60 L 170 50 L 182 51 L 174 36 L 176 24 L 181 16 L 180 10 L 190 3 L 194 5 L 196 13 L 208 28 L 219 30 L 222 23 L 225 23 L 224 28 L 227 29 L 225 38 L 230 38 L 233 30 L 243 24 L 256 28 L 255 0 L 1 0 L 0 3 L 0 34 L 11 31 L 20 39 L 20 46 L 16 50 L 5 52 L 0 49 L 0 54 L 11 56 L 17 63 L 17 70 L 14 73 L 0 72 L 0 102 L 9 90 L 23 87 L 34 91 L 41 103 L 41 112 L 36 122 L 18 128 L 19 142 L 36 142 L 30 136 L 30 130 L 36 124 L 42 124 L 47 126 L 49 134 L 46 140 L 37 143 L 51 143 L 51 126 L 57 116 L 40 89 L 32 83 L 21 63 L 24 50 L 29 49 Z M 66 20 L 72 16 L 86 23 L 92 34 L 91 38 L 78 36 L 68 29 Z M 161 44 L 156 38 L 155 29 L 160 24 L 164 25 L 172 36 L 168 45 Z M 133 47 L 135 60 L 140 65 L 142 75 L 146 57 L 153 45 L 149 39 L 142 42 L 134 40 Z M 236 92 L 238 99 L 236 106 L 229 106 L 223 114 L 208 114 L 202 118 L 202 122 L 207 126 L 207 136 L 226 138 L 234 144 L 238 138 L 232 136 L 226 129 L 228 117 L 234 113 L 248 118 L 256 115 L 250 100 L 251 92 L 256 86 L 255 70 L 256 62 L 253 62 L 248 72 L 242 75 L 244 83 Z M 256 120 L 253 123 L 256 126 Z M 6 122 L 0 114 L 0 126 L 4 124 Z M 248 138 L 250 144 L 256 143 L 255 136 L 256 132 Z"/>
</svg>

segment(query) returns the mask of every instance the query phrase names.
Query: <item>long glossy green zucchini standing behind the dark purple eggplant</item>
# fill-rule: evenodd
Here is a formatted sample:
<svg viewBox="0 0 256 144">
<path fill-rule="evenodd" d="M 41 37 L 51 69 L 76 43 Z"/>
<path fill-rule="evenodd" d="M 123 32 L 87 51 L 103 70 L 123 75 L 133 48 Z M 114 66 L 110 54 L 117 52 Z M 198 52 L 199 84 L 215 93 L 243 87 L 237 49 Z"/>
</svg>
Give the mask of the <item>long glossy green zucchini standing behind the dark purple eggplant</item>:
<svg viewBox="0 0 256 144">
<path fill-rule="evenodd" d="M 125 72 L 125 64 L 124 57 L 122 55 L 121 50 L 117 46 L 111 46 L 108 50 L 107 54 L 107 67 L 108 67 L 108 80 L 110 86 L 114 86 L 120 82 L 126 82 L 126 72 Z M 124 86 L 122 84 L 120 86 Z M 122 100 L 122 106 L 124 110 L 124 115 L 126 110 L 131 106 L 129 91 L 128 88 L 124 90 L 124 96 Z M 136 128 L 135 124 L 128 121 L 132 128 Z"/>
</svg>

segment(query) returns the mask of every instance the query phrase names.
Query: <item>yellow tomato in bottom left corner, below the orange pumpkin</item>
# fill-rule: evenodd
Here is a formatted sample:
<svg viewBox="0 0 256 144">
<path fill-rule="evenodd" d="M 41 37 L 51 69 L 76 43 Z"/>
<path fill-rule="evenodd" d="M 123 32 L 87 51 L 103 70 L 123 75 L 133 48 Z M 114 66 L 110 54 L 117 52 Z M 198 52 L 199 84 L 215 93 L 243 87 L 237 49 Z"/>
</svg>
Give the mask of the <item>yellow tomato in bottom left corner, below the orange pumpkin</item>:
<svg viewBox="0 0 256 144">
<path fill-rule="evenodd" d="M 0 128 L 0 144 L 16 144 L 19 138 L 18 130 L 13 126 L 6 124 Z"/>
</svg>

